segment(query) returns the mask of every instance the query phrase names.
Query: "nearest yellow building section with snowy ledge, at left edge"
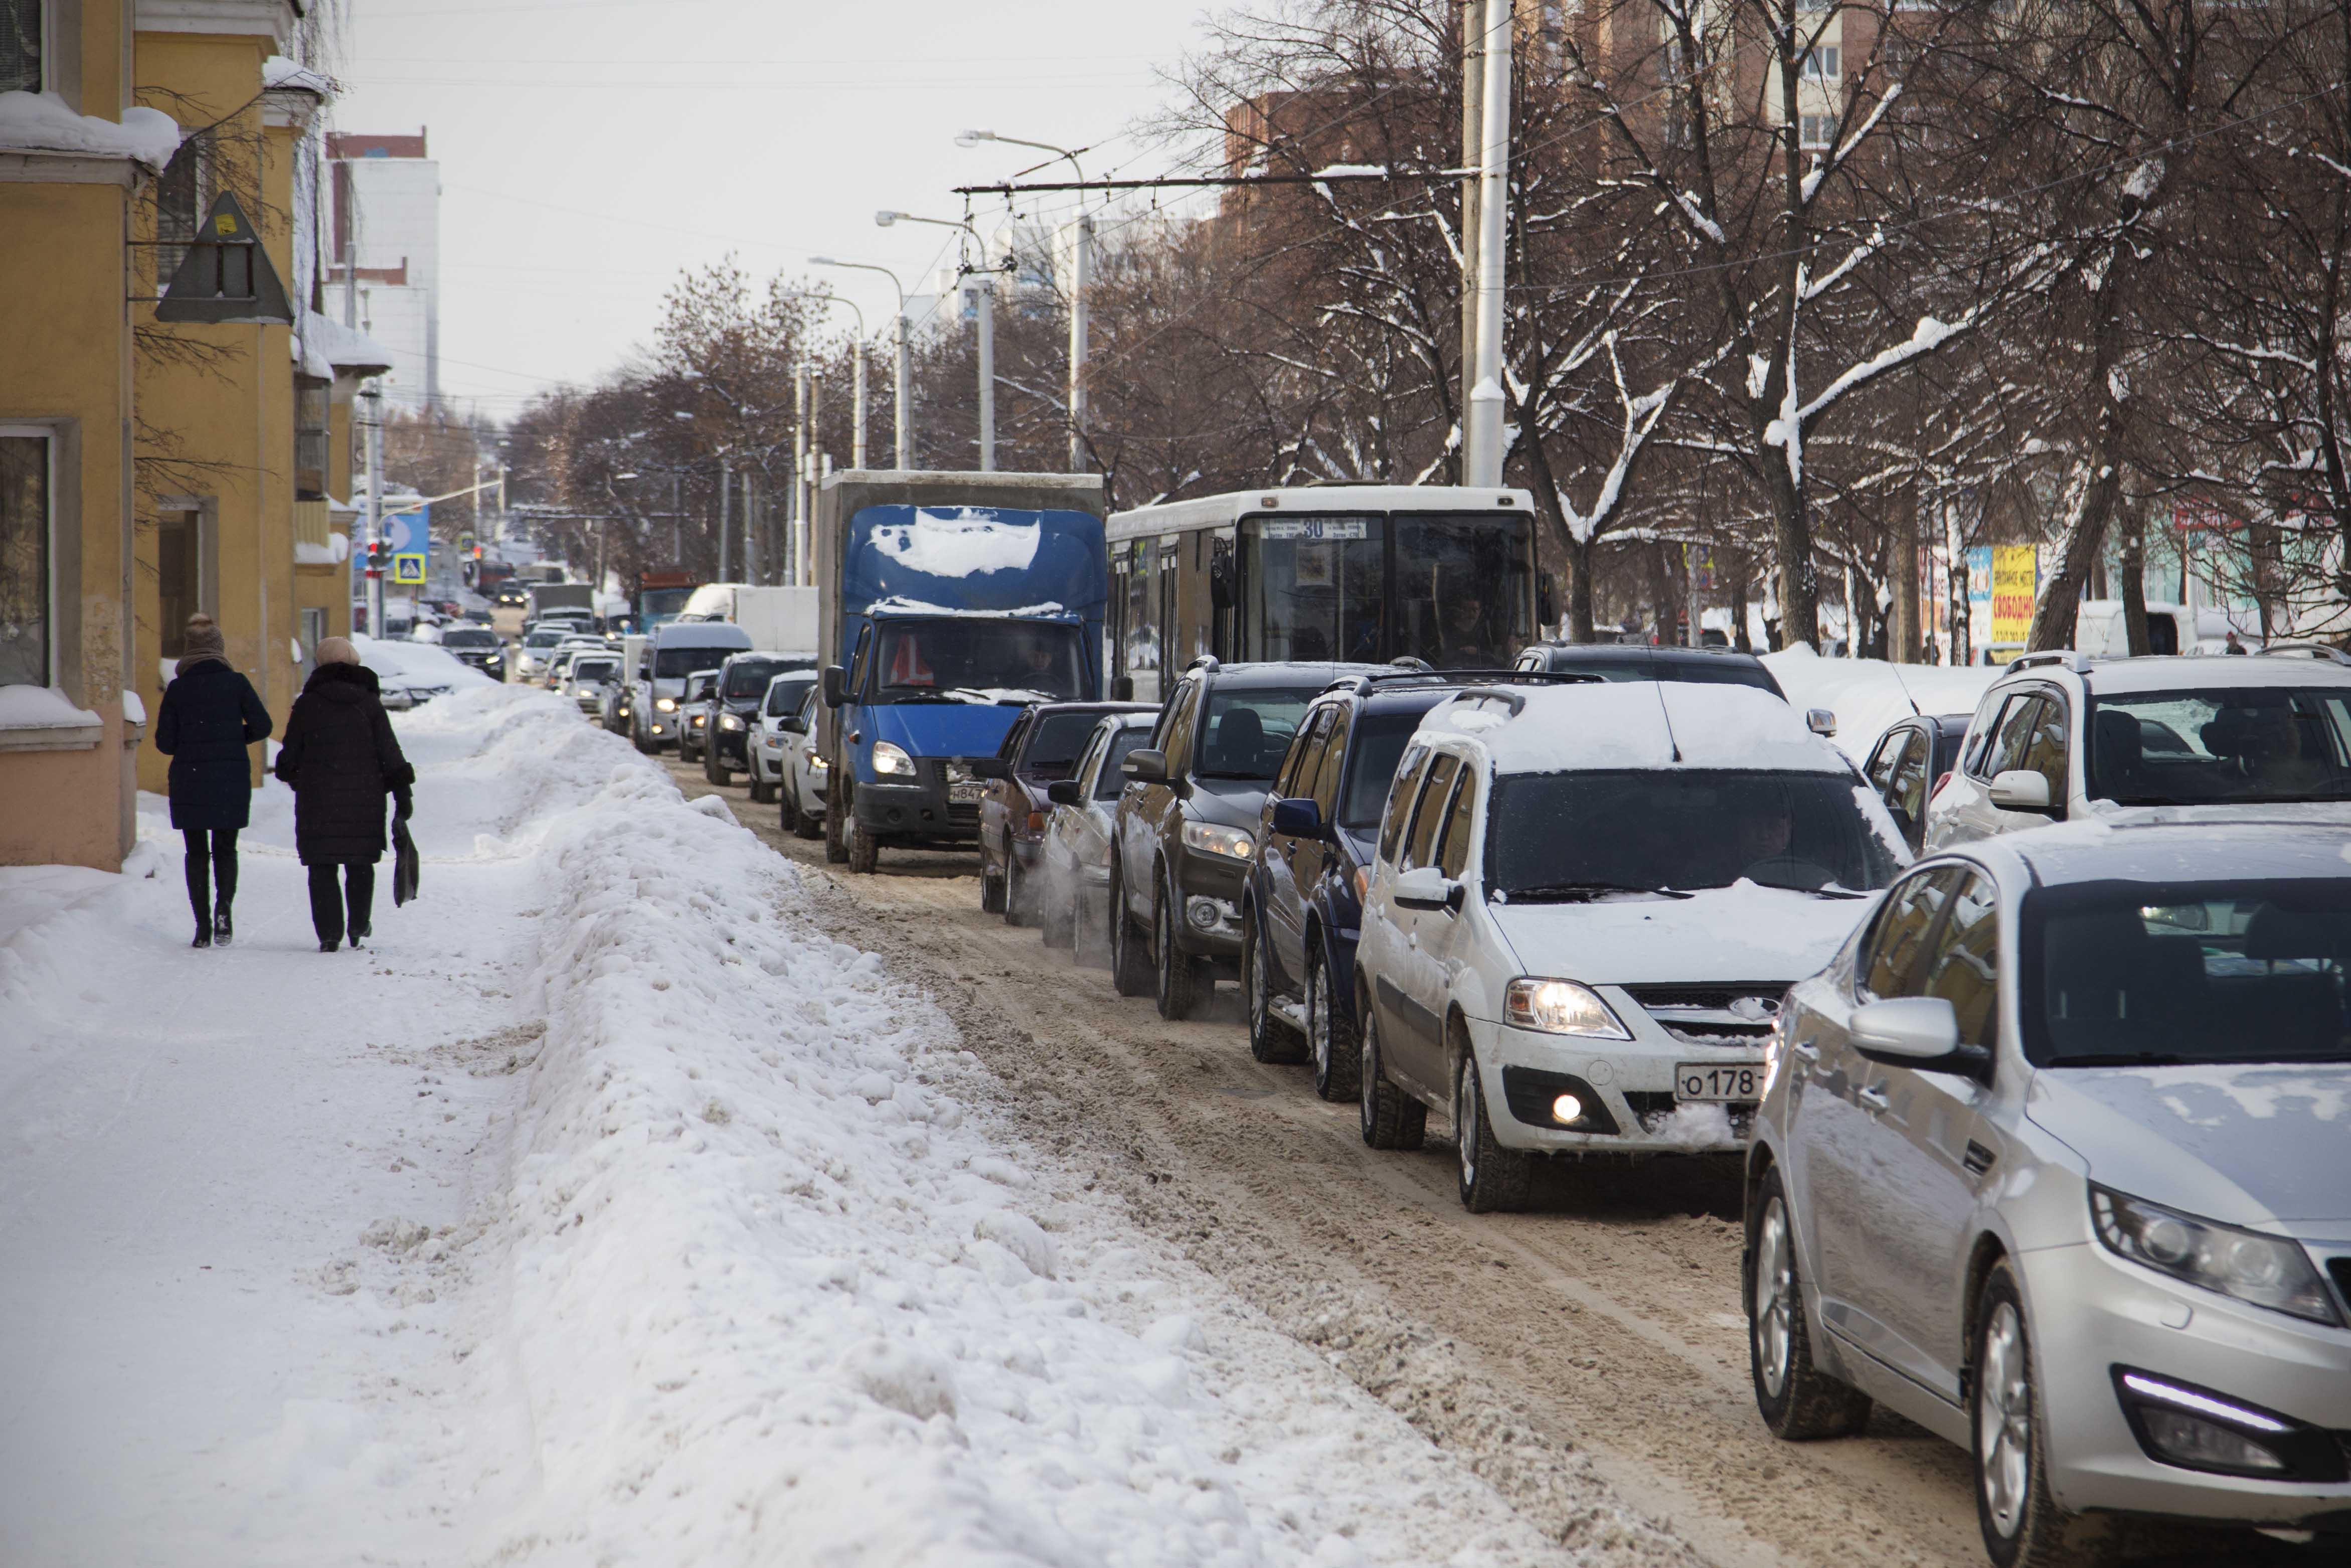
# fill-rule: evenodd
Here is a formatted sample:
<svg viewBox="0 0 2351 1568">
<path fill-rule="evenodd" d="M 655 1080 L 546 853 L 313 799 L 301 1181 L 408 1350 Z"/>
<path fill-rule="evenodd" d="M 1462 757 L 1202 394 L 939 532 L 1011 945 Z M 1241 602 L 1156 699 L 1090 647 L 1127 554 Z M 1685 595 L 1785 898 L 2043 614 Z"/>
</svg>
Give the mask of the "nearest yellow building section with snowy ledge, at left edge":
<svg viewBox="0 0 2351 1568">
<path fill-rule="evenodd" d="M 115 870 L 134 835 L 125 235 L 176 146 L 134 108 L 129 0 L 0 35 L 0 865 Z"/>
</svg>

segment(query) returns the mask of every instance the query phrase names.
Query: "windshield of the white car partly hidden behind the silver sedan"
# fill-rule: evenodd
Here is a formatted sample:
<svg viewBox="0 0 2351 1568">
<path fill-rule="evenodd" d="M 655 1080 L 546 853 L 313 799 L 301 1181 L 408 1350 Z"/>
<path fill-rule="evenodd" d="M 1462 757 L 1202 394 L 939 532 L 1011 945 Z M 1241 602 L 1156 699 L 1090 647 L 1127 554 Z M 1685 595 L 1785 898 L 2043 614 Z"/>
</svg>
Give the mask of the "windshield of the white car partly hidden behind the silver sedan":
<svg viewBox="0 0 2351 1568">
<path fill-rule="evenodd" d="M 2132 691 L 2090 703 L 2090 797 L 2351 799 L 2351 689 Z"/>
</svg>

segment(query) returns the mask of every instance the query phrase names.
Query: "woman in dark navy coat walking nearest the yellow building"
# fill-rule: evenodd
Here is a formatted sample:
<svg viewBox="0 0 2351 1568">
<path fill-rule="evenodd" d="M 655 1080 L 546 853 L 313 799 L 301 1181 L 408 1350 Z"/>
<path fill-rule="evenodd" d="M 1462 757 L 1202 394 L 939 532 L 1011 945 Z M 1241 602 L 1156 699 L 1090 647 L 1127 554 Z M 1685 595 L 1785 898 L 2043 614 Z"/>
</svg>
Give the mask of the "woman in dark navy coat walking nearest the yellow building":
<svg viewBox="0 0 2351 1568">
<path fill-rule="evenodd" d="M 155 715 L 155 750 L 172 759 L 172 825 L 188 846 L 195 945 L 228 945 L 237 900 L 237 832 L 252 820 L 247 745 L 270 733 L 270 710 L 228 663 L 212 616 L 188 616 L 188 651 L 172 668 Z"/>
</svg>

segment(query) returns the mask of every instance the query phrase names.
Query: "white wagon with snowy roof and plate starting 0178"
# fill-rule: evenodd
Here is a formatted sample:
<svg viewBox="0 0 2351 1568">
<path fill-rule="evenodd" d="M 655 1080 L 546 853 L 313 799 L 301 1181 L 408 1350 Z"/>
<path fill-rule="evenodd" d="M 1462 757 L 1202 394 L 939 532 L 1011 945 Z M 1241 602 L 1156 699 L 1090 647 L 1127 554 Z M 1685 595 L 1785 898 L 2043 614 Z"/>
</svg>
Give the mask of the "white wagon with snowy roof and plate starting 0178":
<svg viewBox="0 0 2351 1568">
<path fill-rule="evenodd" d="M 1740 1150 L 1780 997 L 1909 860 L 1749 686 L 1469 686 L 1396 766 L 1354 959 L 1364 1143 L 1453 1119 L 1472 1211 L 1542 1154 Z"/>
</svg>

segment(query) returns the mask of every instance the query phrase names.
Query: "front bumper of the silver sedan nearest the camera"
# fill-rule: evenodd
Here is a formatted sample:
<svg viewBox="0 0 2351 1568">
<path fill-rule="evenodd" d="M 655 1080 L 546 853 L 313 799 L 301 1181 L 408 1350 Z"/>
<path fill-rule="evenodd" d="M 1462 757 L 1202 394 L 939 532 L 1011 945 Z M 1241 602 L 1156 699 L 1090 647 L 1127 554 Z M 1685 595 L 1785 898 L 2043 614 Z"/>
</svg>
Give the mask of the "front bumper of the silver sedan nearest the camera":
<svg viewBox="0 0 2351 1568">
<path fill-rule="evenodd" d="M 2189 1382 L 2332 1432 L 2351 1453 L 2351 1328 L 2172 1284 L 2097 1241 L 2022 1253 L 2022 1284 L 2062 1507 L 2351 1533 L 2351 1481 L 2226 1476 L 2149 1458 L 2114 1380 L 2128 1366 Z"/>
</svg>

